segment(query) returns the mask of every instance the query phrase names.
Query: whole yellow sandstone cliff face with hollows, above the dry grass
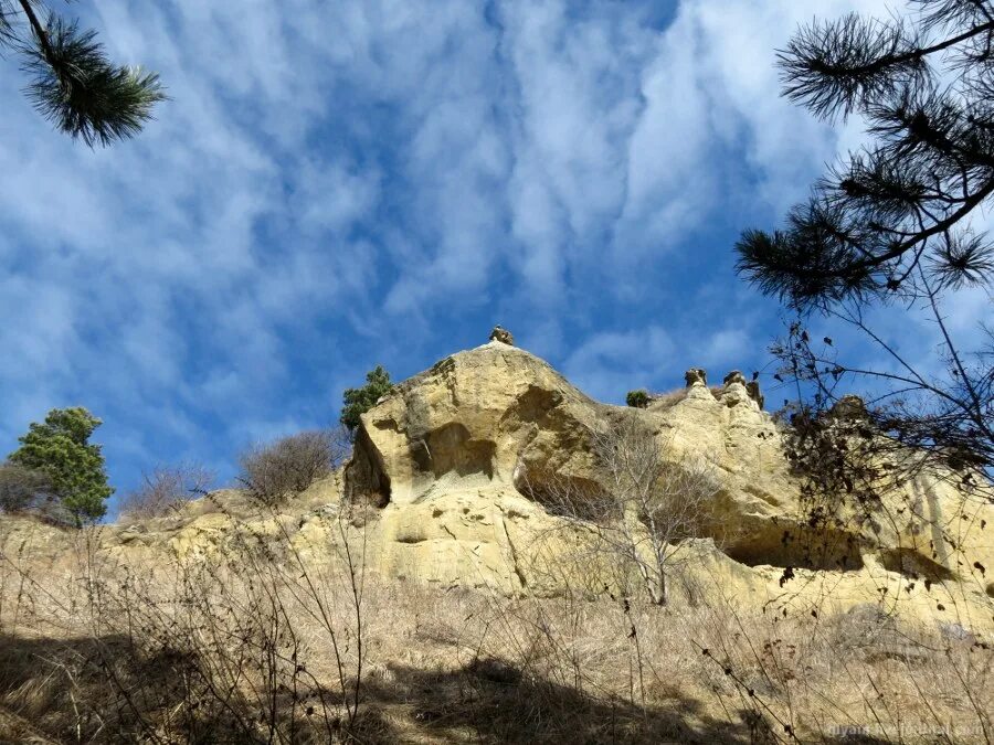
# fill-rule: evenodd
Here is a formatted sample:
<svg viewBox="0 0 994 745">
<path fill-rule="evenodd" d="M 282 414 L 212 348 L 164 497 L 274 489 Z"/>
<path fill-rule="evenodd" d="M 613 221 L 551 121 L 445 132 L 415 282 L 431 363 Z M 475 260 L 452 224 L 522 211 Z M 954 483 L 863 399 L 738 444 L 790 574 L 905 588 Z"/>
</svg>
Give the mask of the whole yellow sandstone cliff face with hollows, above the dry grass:
<svg viewBox="0 0 994 745">
<path fill-rule="evenodd" d="M 615 592 L 622 579 L 588 550 L 589 524 L 558 515 L 551 497 L 610 491 L 593 444 L 636 422 L 667 462 L 704 464 L 717 485 L 708 520 L 683 543 L 675 602 L 719 593 L 846 610 L 887 600 L 919 617 L 994 627 L 994 507 L 922 472 L 886 493 L 873 519 L 839 505 L 840 526 L 813 531 L 783 432 L 758 390 L 736 371 L 721 386 L 708 387 L 700 369 L 686 381 L 644 409 L 606 405 L 494 340 L 399 384 L 363 414 L 345 471 L 284 514 L 253 517 L 244 496 L 218 492 L 179 515 L 102 529 L 101 542 L 125 561 L 163 549 L 195 557 L 245 529 L 288 535 L 302 555 L 331 561 L 342 541 L 361 536 L 368 566 L 398 579 L 504 594 Z M 837 415 L 858 412 L 845 400 Z M 330 529 L 345 524 L 330 518 L 348 530 Z M 45 551 L 60 540 L 45 534 Z"/>
</svg>

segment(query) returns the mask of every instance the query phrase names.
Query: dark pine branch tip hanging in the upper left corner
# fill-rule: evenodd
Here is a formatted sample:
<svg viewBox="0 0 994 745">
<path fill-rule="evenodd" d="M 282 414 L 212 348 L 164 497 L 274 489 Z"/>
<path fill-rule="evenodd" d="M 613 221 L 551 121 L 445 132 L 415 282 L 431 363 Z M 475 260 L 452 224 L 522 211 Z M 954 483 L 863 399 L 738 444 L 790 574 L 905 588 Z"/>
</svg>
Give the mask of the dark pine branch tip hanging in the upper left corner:
<svg viewBox="0 0 994 745">
<path fill-rule="evenodd" d="M 166 99 L 156 73 L 112 63 L 96 32 L 81 30 L 42 0 L 0 0 L 0 52 L 13 52 L 31 82 L 34 108 L 93 147 L 134 137 Z"/>
</svg>

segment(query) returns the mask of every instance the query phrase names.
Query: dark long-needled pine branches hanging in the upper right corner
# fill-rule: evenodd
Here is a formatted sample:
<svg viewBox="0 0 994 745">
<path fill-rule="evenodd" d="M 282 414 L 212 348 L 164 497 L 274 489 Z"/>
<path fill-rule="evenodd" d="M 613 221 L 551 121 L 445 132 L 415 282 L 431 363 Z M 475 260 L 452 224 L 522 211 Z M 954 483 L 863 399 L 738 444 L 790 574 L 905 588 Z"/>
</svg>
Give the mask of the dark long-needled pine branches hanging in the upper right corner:
<svg viewBox="0 0 994 745">
<path fill-rule="evenodd" d="M 994 2 L 910 6 L 910 20 L 815 21 L 778 55 L 791 100 L 829 121 L 860 115 L 874 138 L 785 230 L 738 244 L 739 270 L 795 307 L 921 297 L 994 275 L 994 244 L 966 221 L 994 194 Z"/>
</svg>

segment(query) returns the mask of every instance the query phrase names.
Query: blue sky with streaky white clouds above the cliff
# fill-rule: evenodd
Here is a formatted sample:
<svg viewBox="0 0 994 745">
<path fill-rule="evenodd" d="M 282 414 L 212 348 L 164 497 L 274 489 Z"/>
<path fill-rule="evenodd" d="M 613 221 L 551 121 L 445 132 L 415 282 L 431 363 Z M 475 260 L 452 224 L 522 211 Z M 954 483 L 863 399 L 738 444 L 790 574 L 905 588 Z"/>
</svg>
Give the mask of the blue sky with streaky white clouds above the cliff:
<svg viewBox="0 0 994 745">
<path fill-rule="evenodd" d="M 119 492 L 184 459 L 223 480 L 374 364 L 406 377 L 498 322 L 604 401 L 762 368 L 779 311 L 732 245 L 861 139 L 779 97 L 774 49 L 886 8 L 74 3 L 172 100 L 91 151 L 2 61 L 0 450 L 78 404 Z"/>
</svg>

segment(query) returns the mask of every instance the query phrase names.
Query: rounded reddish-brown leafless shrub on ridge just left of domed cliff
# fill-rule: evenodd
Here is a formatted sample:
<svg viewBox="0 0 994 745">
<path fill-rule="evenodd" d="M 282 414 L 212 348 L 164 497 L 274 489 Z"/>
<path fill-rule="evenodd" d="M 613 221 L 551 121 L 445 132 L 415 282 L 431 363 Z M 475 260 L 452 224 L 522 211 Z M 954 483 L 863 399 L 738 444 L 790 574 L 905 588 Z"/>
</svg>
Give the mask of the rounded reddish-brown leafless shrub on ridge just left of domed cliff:
<svg viewBox="0 0 994 745">
<path fill-rule="evenodd" d="M 248 448 L 239 459 L 239 480 L 255 499 L 276 504 L 330 476 L 339 459 L 334 433 L 302 432 Z"/>
</svg>

